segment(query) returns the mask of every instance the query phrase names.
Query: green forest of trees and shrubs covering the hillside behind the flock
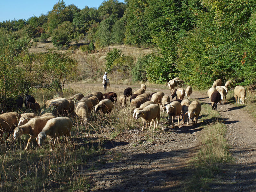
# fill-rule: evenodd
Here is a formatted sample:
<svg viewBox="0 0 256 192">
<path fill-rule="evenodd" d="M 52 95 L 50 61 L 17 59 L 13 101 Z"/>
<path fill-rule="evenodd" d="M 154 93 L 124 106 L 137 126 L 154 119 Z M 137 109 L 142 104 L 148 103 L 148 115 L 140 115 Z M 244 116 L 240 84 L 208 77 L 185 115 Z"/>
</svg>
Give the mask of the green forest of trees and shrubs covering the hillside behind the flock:
<svg viewBox="0 0 256 192">
<path fill-rule="evenodd" d="M 253 89 L 255 8 L 252 0 L 108 0 L 84 9 L 58 1 L 46 15 L 0 22 L 0 100 L 33 86 L 61 95 L 64 84 L 86 78 L 77 76 L 70 52 L 29 52 L 49 37 L 57 50 L 75 49 L 70 42 L 80 40 L 83 52 L 118 44 L 156 48 L 136 63 L 116 48 L 108 52 L 106 70 L 133 81 L 165 84 L 179 76 L 198 89 L 216 79 Z"/>
</svg>

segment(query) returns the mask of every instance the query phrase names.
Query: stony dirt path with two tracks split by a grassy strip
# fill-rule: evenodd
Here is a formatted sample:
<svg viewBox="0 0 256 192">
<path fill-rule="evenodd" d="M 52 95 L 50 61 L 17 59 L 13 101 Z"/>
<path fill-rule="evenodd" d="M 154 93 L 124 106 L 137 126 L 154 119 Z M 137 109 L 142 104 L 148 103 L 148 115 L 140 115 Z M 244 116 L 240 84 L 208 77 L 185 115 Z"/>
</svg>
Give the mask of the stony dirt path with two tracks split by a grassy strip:
<svg viewBox="0 0 256 192">
<path fill-rule="evenodd" d="M 168 88 L 147 87 L 147 92 L 156 91 L 169 95 Z M 193 92 L 191 98 L 210 102 L 206 94 L 198 92 Z M 226 171 L 212 182 L 210 191 L 256 191 L 255 124 L 242 106 L 226 102 L 218 105 L 218 111 L 228 126 L 227 139 L 235 160 L 225 165 Z M 85 171 L 90 191 L 182 191 L 181 181 L 192 176 L 186 165 L 200 143 L 202 129 L 192 129 L 191 124 L 171 129 L 167 121 L 160 122 L 160 127 L 164 131 L 141 133 L 141 127 L 126 130 L 104 143 L 106 149 L 97 164 L 91 165 L 94 169 Z"/>
</svg>

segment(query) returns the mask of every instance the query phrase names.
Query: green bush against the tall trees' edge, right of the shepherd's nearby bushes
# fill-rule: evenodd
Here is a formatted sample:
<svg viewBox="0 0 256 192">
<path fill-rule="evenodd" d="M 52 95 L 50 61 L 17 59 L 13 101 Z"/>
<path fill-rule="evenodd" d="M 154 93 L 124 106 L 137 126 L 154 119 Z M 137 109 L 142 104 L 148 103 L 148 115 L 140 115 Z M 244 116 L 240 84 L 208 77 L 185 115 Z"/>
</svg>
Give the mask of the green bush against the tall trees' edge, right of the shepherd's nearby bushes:
<svg viewBox="0 0 256 192">
<path fill-rule="evenodd" d="M 135 81 L 146 82 L 147 81 L 146 67 L 148 64 L 149 57 L 150 57 L 150 55 L 140 57 L 139 60 L 137 61 L 137 63 L 132 68 L 131 73 L 132 73 L 132 81 L 133 82 L 135 82 Z"/>
</svg>

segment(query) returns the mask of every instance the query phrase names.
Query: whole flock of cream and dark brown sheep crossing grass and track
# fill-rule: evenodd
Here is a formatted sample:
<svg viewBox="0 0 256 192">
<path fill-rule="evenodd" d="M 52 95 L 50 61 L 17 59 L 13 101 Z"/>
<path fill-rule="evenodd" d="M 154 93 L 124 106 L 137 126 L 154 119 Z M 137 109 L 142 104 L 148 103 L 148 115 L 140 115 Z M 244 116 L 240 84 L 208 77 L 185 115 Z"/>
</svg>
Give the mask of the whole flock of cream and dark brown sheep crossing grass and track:
<svg viewBox="0 0 256 192">
<path fill-rule="evenodd" d="M 146 93 L 146 85 L 141 84 L 141 88 L 132 93 L 132 88 L 128 87 L 124 90 L 124 94 L 117 98 L 115 92 L 101 93 L 101 92 L 91 92 L 87 95 L 78 93 L 66 98 L 54 98 L 47 100 L 45 102 L 46 108 L 51 108 L 52 113 L 44 113 L 41 116 L 36 116 L 35 113 L 24 113 L 18 114 L 16 112 L 8 112 L 0 115 L 0 138 L 4 132 L 13 132 L 14 140 L 20 138 L 23 134 L 29 134 L 27 146 L 25 150 L 28 149 L 31 139 L 36 138 L 39 146 L 42 146 L 43 141 L 47 137 L 51 142 L 51 150 L 53 145 L 58 141 L 60 136 L 69 136 L 70 130 L 73 127 L 72 121 L 65 117 L 68 113 L 73 113 L 81 119 L 81 121 L 86 124 L 90 120 L 90 116 L 93 111 L 96 113 L 101 111 L 103 115 L 105 113 L 111 113 L 114 103 L 116 105 L 117 101 L 120 103 L 122 108 L 126 107 L 128 98 L 130 97 L 130 109 L 132 117 L 134 119 L 141 118 L 142 120 L 142 132 L 144 127 L 150 129 L 151 126 L 155 130 L 158 126 L 160 120 L 160 112 L 166 112 L 168 114 L 169 124 L 174 127 L 174 118 L 178 117 L 178 126 L 180 125 L 180 116 L 182 116 L 183 124 L 187 122 L 188 119 L 192 119 L 192 126 L 197 124 L 197 119 L 201 111 L 201 104 L 197 101 L 190 101 L 190 95 L 192 93 L 191 86 L 188 86 L 186 90 L 182 88 L 176 88 L 177 85 L 181 85 L 184 82 L 178 77 L 170 80 L 168 82 L 171 98 L 168 95 L 164 95 L 164 92 L 153 92 L 151 94 Z M 211 98 L 212 109 L 217 109 L 217 103 L 222 101 L 228 93 L 228 86 L 230 86 L 230 81 L 227 81 L 224 86 L 221 86 L 221 80 L 216 80 L 212 88 L 207 92 L 209 98 Z M 185 100 L 184 97 L 186 95 Z M 236 103 L 239 102 L 244 104 L 246 91 L 243 86 L 236 86 L 234 90 L 234 96 Z M 174 97 L 176 97 L 175 100 Z M 31 101 L 31 100 L 30 100 Z M 75 104 L 76 102 L 76 104 Z M 25 101 L 25 105 L 35 105 L 35 99 L 32 102 Z M 31 104 L 32 103 L 32 104 Z M 59 116 L 59 117 L 57 117 Z M 157 120 L 157 121 L 156 121 Z M 53 145 L 52 145 L 53 144 Z"/>
</svg>

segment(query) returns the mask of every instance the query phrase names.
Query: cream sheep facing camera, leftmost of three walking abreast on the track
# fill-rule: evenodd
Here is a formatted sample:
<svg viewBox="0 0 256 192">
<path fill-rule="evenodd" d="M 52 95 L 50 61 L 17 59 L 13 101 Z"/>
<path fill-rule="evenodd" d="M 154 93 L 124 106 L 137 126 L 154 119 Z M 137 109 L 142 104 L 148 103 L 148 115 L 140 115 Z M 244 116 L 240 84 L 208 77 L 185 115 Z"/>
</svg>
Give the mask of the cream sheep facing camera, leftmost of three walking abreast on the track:
<svg viewBox="0 0 256 192">
<path fill-rule="evenodd" d="M 168 114 L 168 120 L 170 122 L 172 118 L 172 128 L 174 128 L 174 118 L 178 116 L 178 126 L 180 126 L 180 114 L 181 114 L 181 104 L 178 101 L 172 101 L 170 104 L 165 106 L 166 112 Z"/>
</svg>

